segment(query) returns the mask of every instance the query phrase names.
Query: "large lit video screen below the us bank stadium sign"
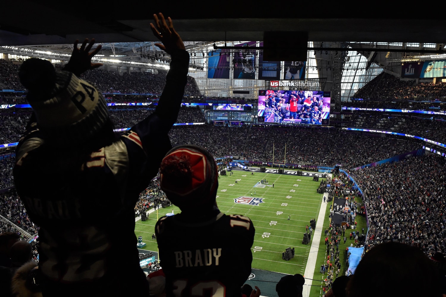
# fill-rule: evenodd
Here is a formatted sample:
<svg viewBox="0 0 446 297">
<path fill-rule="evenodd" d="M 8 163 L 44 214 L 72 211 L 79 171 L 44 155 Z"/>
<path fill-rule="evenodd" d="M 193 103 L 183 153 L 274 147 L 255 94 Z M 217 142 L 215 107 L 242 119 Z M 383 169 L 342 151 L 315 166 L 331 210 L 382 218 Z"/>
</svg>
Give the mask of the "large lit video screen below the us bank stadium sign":
<svg viewBox="0 0 446 297">
<path fill-rule="evenodd" d="M 329 91 L 260 90 L 257 121 L 329 125 Z"/>
</svg>

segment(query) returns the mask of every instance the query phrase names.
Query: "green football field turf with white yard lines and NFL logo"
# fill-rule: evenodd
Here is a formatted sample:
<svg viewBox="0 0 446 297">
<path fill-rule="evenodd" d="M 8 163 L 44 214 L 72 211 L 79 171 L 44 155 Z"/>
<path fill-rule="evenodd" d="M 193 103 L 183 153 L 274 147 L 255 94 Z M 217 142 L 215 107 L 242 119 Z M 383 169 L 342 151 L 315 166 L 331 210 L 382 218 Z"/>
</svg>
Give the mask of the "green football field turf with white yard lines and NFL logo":
<svg viewBox="0 0 446 297">
<path fill-rule="evenodd" d="M 256 228 L 252 268 L 303 274 L 310 244 L 302 244 L 302 238 L 306 225 L 310 225 L 311 219 L 318 218 L 322 194 L 318 194 L 316 189 L 320 182 L 307 176 L 233 172 L 233 176 L 228 172 L 227 176 L 219 177 L 217 204 L 223 213 L 241 214 L 252 220 Z M 268 180 L 268 184 L 259 183 L 262 179 Z M 262 202 L 258 205 L 235 203 L 238 197 L 248 197 L 239 200 L 245 203 Z M 145 222 L 136 222 L 135 235 L 143 237 L 146 250 L 157 251 L 156 240 L 151 239 L 155 223 L 157 218 L 172 210 L 174 213 L 180 212 L 178 207 L 169 206 L 158 213 L 149 214 Z M 291 216 L 290 220 L 288 216 Z M 282 260 L 282 252 L 287 247 L 295 248 L 294 258 L 289 261 Z"/>
</svg>

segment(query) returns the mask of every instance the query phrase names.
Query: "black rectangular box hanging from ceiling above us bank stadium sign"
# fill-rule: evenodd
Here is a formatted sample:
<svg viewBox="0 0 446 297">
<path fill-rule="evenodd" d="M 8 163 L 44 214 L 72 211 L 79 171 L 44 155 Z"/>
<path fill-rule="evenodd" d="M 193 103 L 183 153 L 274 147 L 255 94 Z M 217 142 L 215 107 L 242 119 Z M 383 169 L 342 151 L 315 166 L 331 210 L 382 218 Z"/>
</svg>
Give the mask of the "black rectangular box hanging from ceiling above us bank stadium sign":
<svg viewBox="0 0 446 297">
<path fill-rule="evenodd" d="M 278 40 L 286 40 L 286 46 L 278 46 Z M 308 32 L 263 33 L 264 61 L 306 61 L 307 48 Z"/>
</svg>

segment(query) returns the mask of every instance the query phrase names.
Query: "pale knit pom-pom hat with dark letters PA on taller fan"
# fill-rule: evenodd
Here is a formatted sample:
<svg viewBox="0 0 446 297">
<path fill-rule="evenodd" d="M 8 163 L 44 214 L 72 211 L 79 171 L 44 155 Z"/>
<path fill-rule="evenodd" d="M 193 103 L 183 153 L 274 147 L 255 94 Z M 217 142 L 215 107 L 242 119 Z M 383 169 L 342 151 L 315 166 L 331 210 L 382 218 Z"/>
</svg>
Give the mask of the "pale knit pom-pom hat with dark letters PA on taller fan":
<svg viewBox="0 0 446 297">
<path fill-rule="evenodd" d="M 108 119 L 107 103 L 94 84 L 42 59 L 27 59 L 19 77 L 28 89 L 38 128 L 48 138 L 79 142 L 94 138 Z"/>
</svg>

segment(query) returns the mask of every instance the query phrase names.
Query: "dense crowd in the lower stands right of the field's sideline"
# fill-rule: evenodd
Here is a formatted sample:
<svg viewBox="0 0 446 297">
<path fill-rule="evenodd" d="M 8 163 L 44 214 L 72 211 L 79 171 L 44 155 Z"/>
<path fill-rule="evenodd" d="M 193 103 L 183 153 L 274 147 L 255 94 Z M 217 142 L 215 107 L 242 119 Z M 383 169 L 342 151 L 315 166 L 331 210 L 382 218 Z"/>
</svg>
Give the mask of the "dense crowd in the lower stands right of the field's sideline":
<svg viewBox="0 0 446 297">
<path fill-rule="evenodd" d="M 446 167 L 424 155 L 351 172 L 362 189 L 369 220 L 365 251 L 386 241 L 445 253 Z"/>
</svg>

